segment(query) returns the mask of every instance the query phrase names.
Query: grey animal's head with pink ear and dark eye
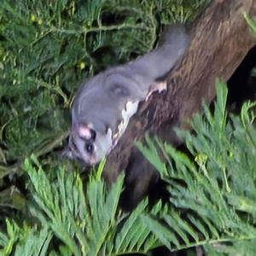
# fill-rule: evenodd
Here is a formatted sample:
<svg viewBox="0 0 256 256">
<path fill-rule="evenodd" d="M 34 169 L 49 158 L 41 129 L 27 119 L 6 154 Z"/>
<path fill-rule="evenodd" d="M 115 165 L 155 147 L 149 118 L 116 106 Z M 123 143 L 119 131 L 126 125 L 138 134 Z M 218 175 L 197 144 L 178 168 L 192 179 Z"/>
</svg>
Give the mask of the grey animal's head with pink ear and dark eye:
<svg viewBox="0 0 256 256">
<path fill-rule="evenodd" d="M 69 148 L 73 158 L 94 166 L 113 148 L 112 131 L 96 131 L 92 124 L 79 124 L 69 137 Z"/>
</svg>

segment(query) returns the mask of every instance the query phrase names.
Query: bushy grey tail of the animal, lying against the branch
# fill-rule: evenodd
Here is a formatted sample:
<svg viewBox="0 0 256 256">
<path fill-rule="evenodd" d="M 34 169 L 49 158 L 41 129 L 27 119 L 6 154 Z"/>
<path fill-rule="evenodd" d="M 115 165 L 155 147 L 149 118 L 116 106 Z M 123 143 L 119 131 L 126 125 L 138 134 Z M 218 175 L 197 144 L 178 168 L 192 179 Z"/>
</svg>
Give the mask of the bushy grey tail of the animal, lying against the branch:
<svg viewBox="0 0 256 256">
<path fill-rule="evenodd" d="M 148 79 L 158 79 L 172 70 L 175 63 L 187 52 L 189 35 L 182 24 L 168 26 L 164 43 L 131 63 L 137 73 L 147 75 Z"/>
</svg>

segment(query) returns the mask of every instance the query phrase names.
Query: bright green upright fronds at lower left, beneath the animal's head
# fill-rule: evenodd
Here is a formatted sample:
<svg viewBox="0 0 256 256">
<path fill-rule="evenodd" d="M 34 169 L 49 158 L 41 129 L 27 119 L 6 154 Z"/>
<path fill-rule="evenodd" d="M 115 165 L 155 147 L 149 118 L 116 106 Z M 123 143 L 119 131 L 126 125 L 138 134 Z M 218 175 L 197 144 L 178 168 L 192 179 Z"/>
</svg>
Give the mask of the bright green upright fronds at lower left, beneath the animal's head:
<svg viewBox="0 0 256 256">
<path fill-rule="evenodd" d="M 30 177 L 30 213 L 44 230 L 35 226 L 30 228 L 32 230 L 28 234 L 26 224 L 19 227 L 15 222 L 9 222 L 6 255 L 32 255 L 27 253 L 31 250 L 30 245 L 24 246 L 26 239 L 31 239 L 31 246 L 37 245 L 31 250 L 32 253 L 37 251 L 37 255 L 47 255 L 46 248 L 48 253 L 55 255 L 56 248 L 49 246 L 53 239 L 58 239 L 61 255 L 73 253 L 76 256 L 148 253 L 162 243 L 168 246 L 168 236 L 160 233 L 163 228 L 158 230 L 158 236 L 150 230 L 150 226 L 155 230 L 160 226 L 157 220 L 148 218 L 148 214 L 161 212 L 161 204 L 155 206 L 152 212 L 147 210 L 148 201 L 143 201 L 130 214 L 119 211 L 124 175 L 120 175 L 117 183 L 107 191 L 99 175 L 102 166 L 85 187 L 77 172 L 67 174 L 63 167 L 53 169 L 56 178 L 50 180 L 34 156 L 31 160 L 26 159 L 23 169 Z M 46 236 L 48 233 L 49 236 Z M 38 240 L 44 244 L 44 250 Z"/>
</svg>

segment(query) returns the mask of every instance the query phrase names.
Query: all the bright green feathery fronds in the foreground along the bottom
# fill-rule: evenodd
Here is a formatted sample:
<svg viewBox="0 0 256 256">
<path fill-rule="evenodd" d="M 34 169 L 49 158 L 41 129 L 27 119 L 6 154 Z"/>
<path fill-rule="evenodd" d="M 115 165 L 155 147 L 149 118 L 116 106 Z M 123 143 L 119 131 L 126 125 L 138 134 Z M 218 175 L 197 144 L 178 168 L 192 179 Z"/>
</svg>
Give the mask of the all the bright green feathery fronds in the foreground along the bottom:
<svg viewBox="0 0 256 256">
<path fill-rule="evenodd" d="M 255 103 L 245 103 L 240 116 L 228 115 L 226 85 L 218 81 L 217 92 L 214 113 L 204 105 L 205 114 L 192 119 L 195 134 L 177 131 L 192 158 L 157 138 L 147 137 L 145 146 L 137 143 L 169 184 L 169 205 L 160 201 L 149 209 L 145 200 L 135 211 L 121 212 L 124 177 L 107 191 L 100 178 L 104 162 L 84 187 L 78 172 L 55 166 L 49 177 L 37 158 L 26 159 L 29 213 L 21 223 L 6 220 L 3 255 L 119 255 L 148 253 L 160 245 L 171 251 L 201 245 L 210 255 L 253 255 Z M 155 143 L 168 165 L 156 156 Z"/>
</svg>

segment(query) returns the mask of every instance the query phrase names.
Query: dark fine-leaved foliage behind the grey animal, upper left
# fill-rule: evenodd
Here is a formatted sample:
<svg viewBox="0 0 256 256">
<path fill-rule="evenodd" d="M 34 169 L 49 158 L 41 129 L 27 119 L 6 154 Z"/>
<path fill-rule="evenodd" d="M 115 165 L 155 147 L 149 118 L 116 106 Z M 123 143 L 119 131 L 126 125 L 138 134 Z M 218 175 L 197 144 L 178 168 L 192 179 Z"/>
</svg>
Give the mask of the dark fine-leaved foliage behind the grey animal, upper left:
<svg viewBox="0 0 256 256">
<path fill-rule="evenodd" d="M 3 161 L 49 152 L 67 137 L 65 113 L 83 79 L 152 49 L 162 24 L 191 20 L 208 2 L 3 0 Z"/>
</svg>

